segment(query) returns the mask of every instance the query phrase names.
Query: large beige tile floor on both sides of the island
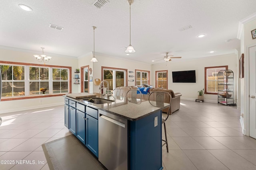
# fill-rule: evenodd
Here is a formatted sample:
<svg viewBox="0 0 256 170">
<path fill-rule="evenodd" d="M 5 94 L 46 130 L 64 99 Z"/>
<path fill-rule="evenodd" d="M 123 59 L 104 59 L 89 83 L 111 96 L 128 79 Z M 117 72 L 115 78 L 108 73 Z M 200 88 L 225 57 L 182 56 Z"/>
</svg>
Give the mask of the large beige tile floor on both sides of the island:
<svg viewBox="0 0 256 170">
<path fill-rule="evenodd" d="M 8 163 L 0 170 L 49 170 L 41 145 L 71 134 L 64 127 L 64 106 L 0 117 L 0 160 Z M 236 107 L 182 100 L 166 121 L 164 170 L 255 170 L 256 139 L 242 135 L 239 117 Z"/>
</svg>

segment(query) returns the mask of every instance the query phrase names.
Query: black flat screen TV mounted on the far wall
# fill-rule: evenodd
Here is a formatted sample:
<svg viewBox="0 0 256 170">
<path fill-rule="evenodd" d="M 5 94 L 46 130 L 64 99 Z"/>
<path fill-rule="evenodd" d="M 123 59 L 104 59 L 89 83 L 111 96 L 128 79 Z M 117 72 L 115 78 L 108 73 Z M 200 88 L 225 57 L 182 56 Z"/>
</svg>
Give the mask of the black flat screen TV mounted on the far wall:
<svg viewBox="0 0 256 170">
<path fill-rule="evenodd" d="M 172 82 L 174 83 L 195 83 L 196 70 L 190 71 L 173 71 Z"/>
</svg>

